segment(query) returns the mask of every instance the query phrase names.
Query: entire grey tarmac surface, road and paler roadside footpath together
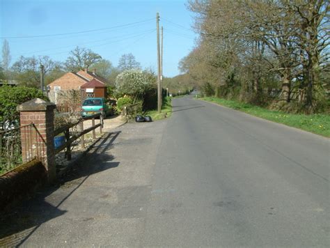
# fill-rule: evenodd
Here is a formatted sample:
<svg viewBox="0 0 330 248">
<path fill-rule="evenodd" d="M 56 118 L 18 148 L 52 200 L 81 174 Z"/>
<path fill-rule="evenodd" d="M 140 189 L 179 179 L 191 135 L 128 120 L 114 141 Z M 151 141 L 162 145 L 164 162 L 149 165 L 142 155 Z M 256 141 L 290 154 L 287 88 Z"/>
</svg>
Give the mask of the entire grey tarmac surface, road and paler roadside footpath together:
<svg viewBox="0 0 330 248">
<path fill-rule="evenodd" d="M 329 139 L 191 98 L 1 215 L 0 246 L 329 247 Z"/>
</svg>

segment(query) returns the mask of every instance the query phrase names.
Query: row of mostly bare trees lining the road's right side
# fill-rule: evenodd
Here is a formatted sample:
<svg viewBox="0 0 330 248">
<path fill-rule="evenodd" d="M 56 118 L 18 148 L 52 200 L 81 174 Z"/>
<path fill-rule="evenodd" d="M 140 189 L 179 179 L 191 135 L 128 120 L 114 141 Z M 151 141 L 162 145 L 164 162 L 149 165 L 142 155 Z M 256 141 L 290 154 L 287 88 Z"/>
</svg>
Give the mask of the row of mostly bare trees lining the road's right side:
<svg viewBox="0 0 330 248">
<path fill-rule="evenodd" d="M 320 75 L 329 61 L 329 1 L 190 0 L 188 8 L 200 39 L 181 67 L 201 88 L 207 82 L 226 98 L 236 88 L 239 99 L 272 98 L 280 109 L 294 109 L 294 97 L 296 109 L 310 112 L 326 97 Z"/>
</svg>

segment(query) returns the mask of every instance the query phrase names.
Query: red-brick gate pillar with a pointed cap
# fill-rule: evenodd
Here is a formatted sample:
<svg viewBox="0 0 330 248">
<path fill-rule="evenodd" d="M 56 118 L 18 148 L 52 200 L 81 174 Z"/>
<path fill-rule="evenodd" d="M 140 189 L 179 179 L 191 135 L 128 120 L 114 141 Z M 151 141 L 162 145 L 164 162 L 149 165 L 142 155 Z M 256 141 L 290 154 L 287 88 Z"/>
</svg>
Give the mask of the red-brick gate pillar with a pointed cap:
<svg viewBox="0 0 330 248">
<path fill-rule="evenodd" d="M 24 102 L 17 106 L 17 111 L 20 115 L 20 125 L 29 125 L 34 123 L 36 129 L 40 133 L 41 137 L 33 141 L 29 141 L 26 137 L 32 137 L 33 128 L 26 128 L 24 132 L 26 134 L 21 137 L 22 153 L 24 151 L 31 149 L 29 146 L 45 146 L 42 151 L 40 151 L 40 157 L 42 164 L 44 164 L 47 171 L 48 181 L 52 182 L 56 178 L 56 164 L 54 155 L 54 109 L 56 105 L 52 102 L 46 102 L 40 98 L 35 98 L 28 102 Z M 45 144 L 44 144 L 45 141 Z M 24 154 L 22 154 L 23 160 L 26 160 Z M 26 161 L 23 161 L 26 162 Z"/>
</svg>

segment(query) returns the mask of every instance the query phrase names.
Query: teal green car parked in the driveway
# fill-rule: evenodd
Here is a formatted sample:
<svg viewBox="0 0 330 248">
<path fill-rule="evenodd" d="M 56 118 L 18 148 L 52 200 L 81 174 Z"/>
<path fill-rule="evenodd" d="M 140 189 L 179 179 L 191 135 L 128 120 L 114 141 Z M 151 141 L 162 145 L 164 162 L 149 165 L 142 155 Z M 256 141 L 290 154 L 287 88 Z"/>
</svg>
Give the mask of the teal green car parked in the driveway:
<svg viewBox="0 0 330 248">
<path fill-rule="evenodd" d="M 109 107 L 104 98 L 86 98 L 82 104 L 81 116 L 92 116 L 101 113 L 103 117 L 109 114 Z"/>
</svg>

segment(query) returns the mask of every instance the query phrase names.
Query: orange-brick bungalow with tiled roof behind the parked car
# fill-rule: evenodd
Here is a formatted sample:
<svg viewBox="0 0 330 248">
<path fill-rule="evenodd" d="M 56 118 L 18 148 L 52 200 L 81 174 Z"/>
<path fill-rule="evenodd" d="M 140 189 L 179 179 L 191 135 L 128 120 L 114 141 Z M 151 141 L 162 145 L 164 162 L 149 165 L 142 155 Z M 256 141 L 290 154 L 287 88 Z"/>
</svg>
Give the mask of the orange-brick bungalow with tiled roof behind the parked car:
<svg viewBox="0 0 330 248">
<path fill-rule="evenodd" d="M 91 82 L 95 79 L 97 82 L 102 83 L 104 86 L 107 84 L 107 80 L 96 74 L 95 69 L 93 72 L 85 70 L 79 70 L 79 72 L 67 72 L 62 77 L 54 80 L 49 86 L 49 100 L 58 104 L 61 102 L 61 98 L 65 93 L 69 91 L 79 91 L 81 98 L 85 98 L 86 92 L 81 89 L 81 86 Z"/>
</svg>

